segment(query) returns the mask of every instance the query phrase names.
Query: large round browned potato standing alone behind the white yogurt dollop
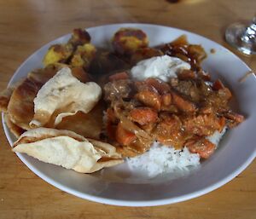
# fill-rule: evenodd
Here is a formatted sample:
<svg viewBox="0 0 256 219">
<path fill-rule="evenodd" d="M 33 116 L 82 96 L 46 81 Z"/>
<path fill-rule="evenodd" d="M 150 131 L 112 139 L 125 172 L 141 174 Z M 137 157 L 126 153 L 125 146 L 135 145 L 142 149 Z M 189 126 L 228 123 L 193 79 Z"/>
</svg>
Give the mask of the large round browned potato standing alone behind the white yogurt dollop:
<svg viewBox="0 0 256 219">
<path fill-rule="evenodd" d="M 113 35 L 112 46 L 119 55 L 131 55 L 137 49 L 148 47 L 148 37 L 139 29 L 120 28 Z"/>
</svg>

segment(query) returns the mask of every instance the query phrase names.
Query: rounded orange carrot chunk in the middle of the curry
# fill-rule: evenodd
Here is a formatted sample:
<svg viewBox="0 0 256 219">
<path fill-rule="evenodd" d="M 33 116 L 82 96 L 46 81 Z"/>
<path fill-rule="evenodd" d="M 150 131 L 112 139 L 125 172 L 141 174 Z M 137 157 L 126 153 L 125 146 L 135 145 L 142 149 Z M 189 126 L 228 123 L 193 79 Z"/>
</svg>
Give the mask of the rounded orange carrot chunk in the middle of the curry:
<svg viewBox="0 0 256 219">
<path fill-rule="evenodd" d="M 149 107 L 134 108 L 130 112 L 131 120 L 141 125 L 155 123 L 157 116 L 157 112 Z"/>
</svg>

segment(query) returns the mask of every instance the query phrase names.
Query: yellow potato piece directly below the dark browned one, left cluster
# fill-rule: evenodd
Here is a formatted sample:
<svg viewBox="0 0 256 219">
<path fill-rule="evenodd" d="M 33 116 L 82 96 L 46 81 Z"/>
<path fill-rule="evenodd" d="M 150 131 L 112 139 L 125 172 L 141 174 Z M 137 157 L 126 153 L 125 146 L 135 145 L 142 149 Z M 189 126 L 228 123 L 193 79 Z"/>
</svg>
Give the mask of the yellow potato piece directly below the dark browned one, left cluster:
<svg viewBox="0 0 256 219">
<path fill-rule="evenodd" d="M 82 66 L 87 69 L 90 66 L 90 61 L 96 55 L 96 48 L 90 43 L 85 43 L 84 45 L 79 45 L 73 54 L 70 61 L 71 66 Z"/>
</svg>

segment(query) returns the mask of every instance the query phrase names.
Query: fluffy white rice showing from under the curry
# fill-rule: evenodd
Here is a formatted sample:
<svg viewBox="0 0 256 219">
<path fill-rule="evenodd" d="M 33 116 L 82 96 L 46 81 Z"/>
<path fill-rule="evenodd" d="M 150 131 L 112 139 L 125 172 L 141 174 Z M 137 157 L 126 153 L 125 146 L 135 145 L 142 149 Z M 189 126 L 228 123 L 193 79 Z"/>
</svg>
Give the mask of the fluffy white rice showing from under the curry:
<svg viewBox="0 0 256 219">
<path fill-rule="evenodd" d="M 226 128 L 219 133 L 215 133 L 207 139 L 218 147 L 218 142 L 222 138 Z M 163 173 L 172 173 L 182 176 L 189 170 L 194 170 L 200 165 L 198 153 L 190 153 L 187 147 L 183 150 L 175 150 L 173 147 L 166 147 L 158 142 L 147 153 L 143 153 L 135 158 L 127 158 L 127 164 L 131 171 L 144 172 L 148 177 L 158 176 Z M 178 174 L 177 174 L 178 173 Z"/>
</svg>

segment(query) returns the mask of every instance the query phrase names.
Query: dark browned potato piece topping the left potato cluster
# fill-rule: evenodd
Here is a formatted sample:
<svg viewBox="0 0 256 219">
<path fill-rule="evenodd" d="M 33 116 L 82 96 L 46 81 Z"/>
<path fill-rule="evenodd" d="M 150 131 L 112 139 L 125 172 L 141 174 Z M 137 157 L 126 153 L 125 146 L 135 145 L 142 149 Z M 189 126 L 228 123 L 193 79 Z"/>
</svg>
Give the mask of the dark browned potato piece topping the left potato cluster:
<svg viewBox="0 0 256 219">
<path fill-rule="evenodd" d="M 82 29 L 74 29 L 71 38 L 68 40 L 75 48 L 85 43 L 90 43 L 90 34 Z"/>
</svg>

